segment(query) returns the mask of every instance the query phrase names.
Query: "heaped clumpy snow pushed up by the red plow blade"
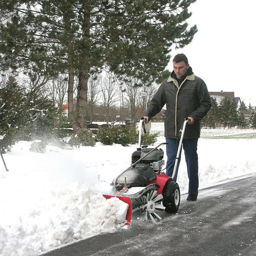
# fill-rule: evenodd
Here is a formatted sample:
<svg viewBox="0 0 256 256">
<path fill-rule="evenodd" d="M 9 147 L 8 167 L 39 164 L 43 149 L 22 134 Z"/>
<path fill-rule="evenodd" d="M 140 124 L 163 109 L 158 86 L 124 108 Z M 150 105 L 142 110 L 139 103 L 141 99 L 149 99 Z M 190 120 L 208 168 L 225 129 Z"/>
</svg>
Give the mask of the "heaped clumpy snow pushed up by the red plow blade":
<svg viewBox="0 0 256 256">
<path fill-rule="evenodd" d="M 92 188 L 74 184 L 59 189 L 29 205 L 22 214 L 7 216 L 11 212 L 6 209 L 0 220 L 1 255 L 35 255 L 74 239 L 113 233 L 124 225 L 127 209 L 118 198 L 106 200 Z"/>
</svg>

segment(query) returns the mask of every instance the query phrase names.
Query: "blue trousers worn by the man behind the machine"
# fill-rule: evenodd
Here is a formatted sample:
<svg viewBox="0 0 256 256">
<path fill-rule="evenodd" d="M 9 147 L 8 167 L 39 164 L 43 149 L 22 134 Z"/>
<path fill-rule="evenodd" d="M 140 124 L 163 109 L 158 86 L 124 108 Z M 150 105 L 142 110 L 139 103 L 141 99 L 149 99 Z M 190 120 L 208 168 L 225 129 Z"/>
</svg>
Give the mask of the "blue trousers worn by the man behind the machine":
<svg viewBox="0 0 256 256">
<path fill-rule="evenodd" d="M 179 141 L 176 139 L 165 138 L 166 142 L 166 155 L 167 155 L 167 163 L 166 163 L 166 175 L 172 177 L 174 164 L 177 156 L 177 151 L 179 147 Z M 198 156 L 197 156 L 197 141 L 196 139 L 183 139 L 182 145 L 185 153 L 185 160 L 187 163 L 188 170 L 188 195 L 193 196 L 198 193 Z M 180 150 L 181 156 L 181 150 Z M 178 168 L 180 164 L 180 157 L 177 165 L 176 174 L 173 178 L 173 181 L 176 182 L 178 175 Z"/>
</svg>

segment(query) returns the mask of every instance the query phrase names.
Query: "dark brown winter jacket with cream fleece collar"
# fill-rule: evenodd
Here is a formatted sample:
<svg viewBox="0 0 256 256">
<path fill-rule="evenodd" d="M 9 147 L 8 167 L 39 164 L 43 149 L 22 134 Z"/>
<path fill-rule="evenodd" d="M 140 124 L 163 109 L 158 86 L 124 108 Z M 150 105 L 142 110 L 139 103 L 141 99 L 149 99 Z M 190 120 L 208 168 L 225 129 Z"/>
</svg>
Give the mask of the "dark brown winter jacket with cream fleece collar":
<svg viewBox="0 0 256 256">
<path fill-rule="evenodd" d="M 177 138 L 185 118 L 190 116 L 195 123 L 186 125 L 184 138 L 199 138 L 200 120 L 212 107 L 208 89 L 204 81 L 194 75 L 191 68 L 180 86 L 175 78 L 176 75 L 172 72 L 171 76 L 163 81 L 150 101 L 145 116 L 152 118 L 166 104 L 164 136 Z"/>
</svg>

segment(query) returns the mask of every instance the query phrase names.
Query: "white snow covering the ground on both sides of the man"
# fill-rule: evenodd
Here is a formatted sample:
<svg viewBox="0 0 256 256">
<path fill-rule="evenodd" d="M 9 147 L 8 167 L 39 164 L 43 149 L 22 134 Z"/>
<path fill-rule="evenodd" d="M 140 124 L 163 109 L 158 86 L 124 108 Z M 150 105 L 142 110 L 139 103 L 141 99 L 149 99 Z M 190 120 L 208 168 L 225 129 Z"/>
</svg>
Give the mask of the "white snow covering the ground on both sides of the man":
<svg viewBox="0 0 256 256">
<path fill-rule="evenodd" d="M 151 131 L 162 132 L 163 125 L 152 123 Z M 252 132 L 202 130 L 198 141 L 200 188 L 255 172 L 254 139 L 216 137 Z M 216 139 L 208 138 L 214 136 Z M 162 134 L 156 145 L 161 142 L 165 142 Z M 47 146 L 45 153 L 35 153 L 29 150 L 31 144 L 20 141 L 3 154 L 9 172 L 0 159 L 0 255 L 39 255 L 100 233 L 115 233 L 124 226 L 127 204 L 117 198 L 106 200 L 102 192 L 108 192 L 114 177 L 131 164 L 137 145 Z M 165 152 L 164 145 L 160 148 Z M 186 194 L 183 153 L 177 182 L 181 194 Z"/>
</svg>

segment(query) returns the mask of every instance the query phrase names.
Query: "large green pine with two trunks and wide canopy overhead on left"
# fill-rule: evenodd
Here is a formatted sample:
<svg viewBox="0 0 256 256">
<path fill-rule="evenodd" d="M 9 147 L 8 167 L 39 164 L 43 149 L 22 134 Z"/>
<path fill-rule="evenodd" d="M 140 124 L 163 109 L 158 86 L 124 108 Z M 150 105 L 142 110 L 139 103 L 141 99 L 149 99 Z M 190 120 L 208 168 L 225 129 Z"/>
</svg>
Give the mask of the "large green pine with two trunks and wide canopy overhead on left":
<svg viewBox="0 0 256 256">
<path fill-rule="evenodd" d="M 1 13 L 11 20 L 1 26 L 0 65 L 35 63 L 49 75 L 68 70 L 69 112 L 77 75 L 77 123 L 84 127 L 91 72 L 107 69 L 142 83 L 161 81 L 169 73 L 171 46 L 184 47 L 197 31 L 186 22 L 195 1 L 3 0 Z"/>
</svg>

